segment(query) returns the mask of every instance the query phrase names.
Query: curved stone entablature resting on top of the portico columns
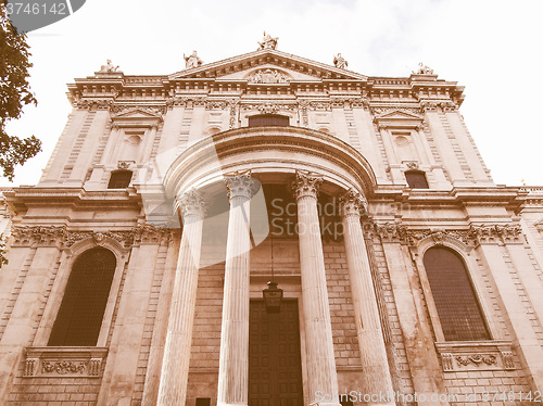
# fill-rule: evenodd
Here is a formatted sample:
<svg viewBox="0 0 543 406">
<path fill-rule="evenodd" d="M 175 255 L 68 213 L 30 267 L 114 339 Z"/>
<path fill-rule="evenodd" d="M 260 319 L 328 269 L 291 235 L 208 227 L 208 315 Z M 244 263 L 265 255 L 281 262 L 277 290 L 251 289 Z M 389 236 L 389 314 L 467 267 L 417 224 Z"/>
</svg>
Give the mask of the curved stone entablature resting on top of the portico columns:
<svg viewBox="0 0 543 406">
<path fill-rule="evenodd" d="M 320 174 L 325 183 L 374 193 L 376 176 L 368 161 L 346 142 L 301 127 L 244 127 L 206 137 L 185 150 L 169 166 L 164 185 L 171 196 L 202 188 L 235 172 Z"/>
</svg>

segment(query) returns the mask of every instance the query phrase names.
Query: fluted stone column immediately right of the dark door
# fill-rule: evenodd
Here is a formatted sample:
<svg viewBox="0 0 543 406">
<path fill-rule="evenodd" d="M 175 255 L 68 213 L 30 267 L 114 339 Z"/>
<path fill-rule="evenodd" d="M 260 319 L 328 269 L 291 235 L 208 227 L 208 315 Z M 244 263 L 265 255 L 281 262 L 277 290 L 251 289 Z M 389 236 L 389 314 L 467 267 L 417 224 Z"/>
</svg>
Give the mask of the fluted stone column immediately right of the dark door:
<svg viewBox="0 0 543 406">
<path fill-rule="evenodd" d="M 296 172 L 294 193 L 298 202 L 310 405 L 323 404 L 326 396 L 338 394 L 325 256 L 317 211 L 317 193 L 321 182 L 323 178 L 319 176 Z M 337 399 L 329 403 L 339 405 Z"/>
</svg>

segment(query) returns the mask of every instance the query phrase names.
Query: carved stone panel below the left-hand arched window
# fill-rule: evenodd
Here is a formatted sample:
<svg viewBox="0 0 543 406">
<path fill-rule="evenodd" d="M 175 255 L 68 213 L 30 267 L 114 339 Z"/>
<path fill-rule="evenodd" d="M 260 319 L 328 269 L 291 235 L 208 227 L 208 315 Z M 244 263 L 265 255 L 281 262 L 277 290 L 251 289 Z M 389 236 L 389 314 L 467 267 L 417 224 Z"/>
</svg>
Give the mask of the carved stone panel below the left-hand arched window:
<svg viewBox="0 0 543 406">
<path fill-rule="evenodd" d="M 24 378 L 100 378 L 108 355 L 98 346 L 34 346 L 25 351 Z"/>
</svg>

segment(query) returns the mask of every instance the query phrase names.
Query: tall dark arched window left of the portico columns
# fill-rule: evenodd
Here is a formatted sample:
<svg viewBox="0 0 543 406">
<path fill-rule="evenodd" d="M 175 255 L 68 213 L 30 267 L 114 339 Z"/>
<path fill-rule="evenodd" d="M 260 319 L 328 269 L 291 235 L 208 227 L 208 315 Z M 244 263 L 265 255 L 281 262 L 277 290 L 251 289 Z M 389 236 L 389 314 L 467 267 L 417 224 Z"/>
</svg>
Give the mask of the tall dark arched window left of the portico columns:
<svg viewBox="0 0 543 406">
<path fill-rule="evenodd" d="M 76 259 L 48 345 L 97 345 L 115 264 L 115 255 L 102 248 Z"/>
</svg>

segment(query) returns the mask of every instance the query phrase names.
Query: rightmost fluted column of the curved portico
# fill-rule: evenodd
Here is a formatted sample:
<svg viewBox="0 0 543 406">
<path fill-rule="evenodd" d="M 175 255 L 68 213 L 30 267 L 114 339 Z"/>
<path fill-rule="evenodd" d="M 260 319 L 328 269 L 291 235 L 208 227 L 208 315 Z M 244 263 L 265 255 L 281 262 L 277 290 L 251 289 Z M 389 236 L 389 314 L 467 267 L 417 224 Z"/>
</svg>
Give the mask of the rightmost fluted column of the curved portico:
<svg viewBox="0 0 543 406">
<path fill-rule="evenodd" d="M 387 350 L 382 335 L 377 297 L 371 280 L 368 253 L 361 226 L 361 208 L 366 204 L 364 199 L 354 191 L 346 192 L 341 198 L 344 241 L 353 307 L 358 344 L 361 348 L 362 368 L 364 370 L 365 394 L 392 393 L 392 379 L 387 360 Z M 382 401 L 384 397 L 377 397 Z M 394 405 L 392 396 L 389 402 L 369 403 L 369 405 Z"/>
</svg>

